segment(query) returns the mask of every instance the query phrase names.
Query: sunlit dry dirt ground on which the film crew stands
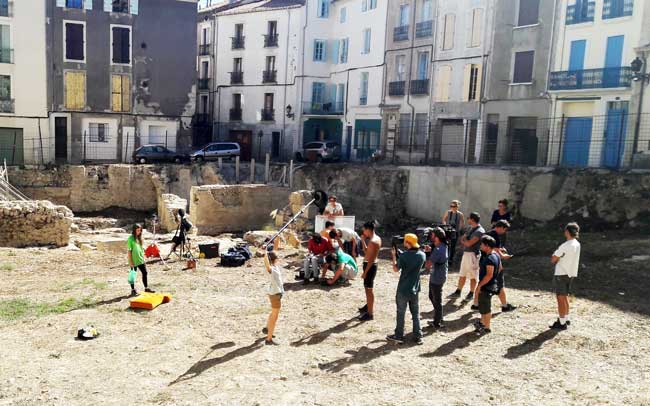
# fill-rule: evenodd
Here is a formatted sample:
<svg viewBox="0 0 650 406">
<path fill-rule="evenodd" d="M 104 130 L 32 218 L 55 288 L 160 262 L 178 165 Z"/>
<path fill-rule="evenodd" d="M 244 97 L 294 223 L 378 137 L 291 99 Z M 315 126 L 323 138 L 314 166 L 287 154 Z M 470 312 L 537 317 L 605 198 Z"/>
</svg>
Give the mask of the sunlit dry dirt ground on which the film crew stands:
<svg viewBox="0 0 650 406">
<path fill-rule="evenodd" d="M 194 271 L 150 265 L 151 286 L 173 300 L 136 312 L 123 254 L 2 248 L 0 405 L 650 404 L 650 240 L 582 236 L 573 324 L 558 333 L 548 330 L 556 317 L 549 256 L 561 239 L 559 230 L 513 232 L 506 283 L 519 308 L 501 314 L 494 299 L 493 332 L 479 338 L 477 314 L 450 301 L 447 327 L 427 327 L 422 346 L 385 340 L 398 280 L 387 249 L 375 320 L 366 323 L 355 319 L 360 280 L 304 286 L 285 268 L 282 345 L 267 347 L 259 258 L 241 268 L 214 259 Z M 300 256 L 285 250 L 281 258 L 286 265 Z M 452 272 L 446 295 L 456 280 Z M 427 284 L 423 276 L 425 326 Z M 75 340 L 87 323 L 100 337 Z"/>
</svg>

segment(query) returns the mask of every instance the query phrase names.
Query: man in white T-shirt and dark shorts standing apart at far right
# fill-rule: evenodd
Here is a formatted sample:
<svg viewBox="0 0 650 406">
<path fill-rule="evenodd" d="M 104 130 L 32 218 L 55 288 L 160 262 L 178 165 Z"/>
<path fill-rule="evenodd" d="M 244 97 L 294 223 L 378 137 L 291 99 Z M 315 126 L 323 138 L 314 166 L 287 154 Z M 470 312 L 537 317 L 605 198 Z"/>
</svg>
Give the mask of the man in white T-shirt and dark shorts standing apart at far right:
<svg viewBox="0 0 650 406">
<path fill-rule="evenodd" d="M 569 295 L 573 280 L 578 277 L 578 266 L 580 264 L 580 242 L 578 236 L 580 226 L 577 223 L 569 223 L 564 227 L 566 242 L 555 250 L 551 262 L 555 264 L 555 275 L 553 276 L 553 287 L 557 297 L 558 319 L 550 328 L 566 330 L 571 324 L 569 321 Z"/>
</svg>

